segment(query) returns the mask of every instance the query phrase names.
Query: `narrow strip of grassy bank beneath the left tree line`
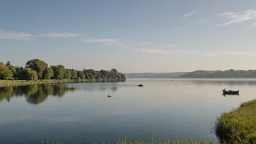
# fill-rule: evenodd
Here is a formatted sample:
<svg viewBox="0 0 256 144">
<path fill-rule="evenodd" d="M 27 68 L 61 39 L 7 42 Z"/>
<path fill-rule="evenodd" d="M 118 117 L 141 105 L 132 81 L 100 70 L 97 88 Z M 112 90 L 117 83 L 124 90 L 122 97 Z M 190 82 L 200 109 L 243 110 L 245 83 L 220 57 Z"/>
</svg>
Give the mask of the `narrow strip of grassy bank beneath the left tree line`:
<svg viewBox="0 0 256 144">
<path fill-rule="evenodd" d="M 111 81 L 111 80 L 110 80 Z M 122 80 L 120 80 L 122 81 Z M 125 80 L 124 80 L 125 81 Z M 28 85 L 28 84 L 61 84 L 61 83 L 73 83 L 73 82 L 105 82 L 100 80 L 57 80 L 57 79 L 49 79 L 49 80 L 36 80 L 36 81 L 26 81 L 26 80 L 0 80 L 0 87 L 5 86 L 19 86 L 19 85 Z"/>
</svg>

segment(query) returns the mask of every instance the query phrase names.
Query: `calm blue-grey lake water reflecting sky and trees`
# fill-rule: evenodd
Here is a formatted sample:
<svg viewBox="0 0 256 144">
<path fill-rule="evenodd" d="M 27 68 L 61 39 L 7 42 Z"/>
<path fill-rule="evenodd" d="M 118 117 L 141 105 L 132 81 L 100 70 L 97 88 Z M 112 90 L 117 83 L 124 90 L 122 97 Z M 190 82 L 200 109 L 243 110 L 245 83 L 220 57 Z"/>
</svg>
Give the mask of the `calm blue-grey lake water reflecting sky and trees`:
<svg viewBox="0 0 256 144">
<path fill-rule="evenodd" d="M 240 95 L 224 97 L 224 88 L 239 89 Z M 255 88 L 256 79 L 1 87 L 0 143 L 35 144 L 56 135 L 64 143 L 108 143 L 125 135 L 145 141 L 152 135 L 163 140 L 215 139 L 210 128 L 217 116 L 255 98 Z"/>
</svg>

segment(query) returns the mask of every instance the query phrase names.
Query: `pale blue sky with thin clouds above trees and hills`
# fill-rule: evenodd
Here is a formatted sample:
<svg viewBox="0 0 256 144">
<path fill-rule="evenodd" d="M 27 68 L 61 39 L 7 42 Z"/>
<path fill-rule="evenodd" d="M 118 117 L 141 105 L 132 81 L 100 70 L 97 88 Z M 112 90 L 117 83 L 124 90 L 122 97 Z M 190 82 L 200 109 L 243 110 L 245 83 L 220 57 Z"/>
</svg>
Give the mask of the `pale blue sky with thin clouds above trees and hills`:
<svg viewBox="0 0 256 144">
<path fill-rule="evenodd" d="M 256 69 L 255 0 L 2 0 L 0 61 L 120 72 Z"/>
</svg>

